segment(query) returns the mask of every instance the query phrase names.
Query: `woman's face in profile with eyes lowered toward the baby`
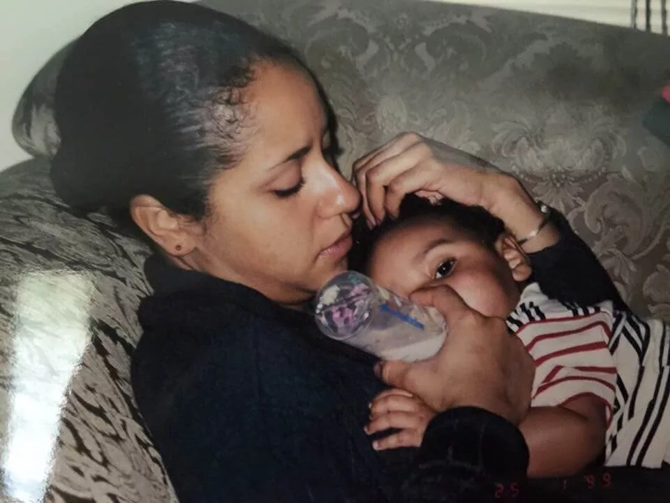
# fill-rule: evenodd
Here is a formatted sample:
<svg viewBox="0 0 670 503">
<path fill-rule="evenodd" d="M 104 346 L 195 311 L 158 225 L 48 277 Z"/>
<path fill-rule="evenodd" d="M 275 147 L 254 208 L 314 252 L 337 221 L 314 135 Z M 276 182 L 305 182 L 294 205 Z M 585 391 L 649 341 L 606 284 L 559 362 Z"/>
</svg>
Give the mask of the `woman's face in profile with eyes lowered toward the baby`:
<svg viewBox="0 0 670 503">
<path fill-rule="evenodd" d="M 214 180 L 193 262 L 298 304 L 345 270 L 359 193 L 329 155 L 325 110 L 305 73 L 259 65 L 244 98 L 246 150 Z"/>
</svg>

